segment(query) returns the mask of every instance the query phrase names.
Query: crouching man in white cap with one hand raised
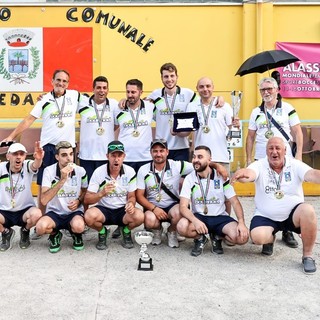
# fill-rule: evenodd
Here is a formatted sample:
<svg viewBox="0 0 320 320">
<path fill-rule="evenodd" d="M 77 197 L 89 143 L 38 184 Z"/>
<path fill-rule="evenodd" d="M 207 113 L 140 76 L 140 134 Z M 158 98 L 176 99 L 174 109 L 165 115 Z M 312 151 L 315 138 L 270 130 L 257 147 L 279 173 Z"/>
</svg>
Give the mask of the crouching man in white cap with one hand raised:
<svg viewBox="0 0 320 320">
<path fill-rule="evenodd" d="M 21 227 L 20 248 L 28 248 L 30 228 L 41 217 L 41 211 L 36 207 L 31 192 L 33 175 L 40 168 L 44 156 L 39 141 L 35 143 L 35 160 L 26 160 L 26 156 L 26 148 L 21 143 L 14 143 L 8 149 L 8 161 L 0 163 L 0 251 L 11 248 L 15 234 L 11 227 L 15 225 Z"/>
</svg>

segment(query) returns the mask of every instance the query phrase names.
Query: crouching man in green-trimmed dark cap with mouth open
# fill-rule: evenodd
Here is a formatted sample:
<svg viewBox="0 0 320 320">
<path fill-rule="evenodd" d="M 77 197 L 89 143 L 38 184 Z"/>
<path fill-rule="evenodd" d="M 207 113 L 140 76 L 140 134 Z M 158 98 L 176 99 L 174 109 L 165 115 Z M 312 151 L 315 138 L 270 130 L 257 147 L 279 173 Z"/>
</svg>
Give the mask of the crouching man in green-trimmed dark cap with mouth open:
<svg viewBox="0 0 320 320">
<path fill-rule="evenodd" d="M 105 225 L 122 228 L 122 246 L 133 248 L 131 230 L 143 223 L 143 212 L 136 208 L 136 173 L 123 164 L 125 149 L 120 141 L 108 144 L 108 163 L 97 168 L 90 180 L 85 203 L 93 205 L 84 214 L 90 228 L 99 232 L 98 250 L 107 249 L 108 230 Z"/>
</svg>

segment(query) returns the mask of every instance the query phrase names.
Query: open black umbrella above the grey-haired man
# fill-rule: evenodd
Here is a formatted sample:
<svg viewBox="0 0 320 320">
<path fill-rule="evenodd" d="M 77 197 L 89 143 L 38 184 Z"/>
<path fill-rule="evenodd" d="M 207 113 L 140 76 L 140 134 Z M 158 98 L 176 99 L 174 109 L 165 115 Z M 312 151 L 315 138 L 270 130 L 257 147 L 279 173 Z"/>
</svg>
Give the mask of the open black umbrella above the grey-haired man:
<svg viewBox="0 0 320 320">
<path fill-rule="evenodd" d="M 249 73 L 263 73 L 270 69 L 285 67 L 299 61 L 297 57 L 283 50 L 263 51 L 247 59 L 235 75 L 244 76 Z"/>
</svg>

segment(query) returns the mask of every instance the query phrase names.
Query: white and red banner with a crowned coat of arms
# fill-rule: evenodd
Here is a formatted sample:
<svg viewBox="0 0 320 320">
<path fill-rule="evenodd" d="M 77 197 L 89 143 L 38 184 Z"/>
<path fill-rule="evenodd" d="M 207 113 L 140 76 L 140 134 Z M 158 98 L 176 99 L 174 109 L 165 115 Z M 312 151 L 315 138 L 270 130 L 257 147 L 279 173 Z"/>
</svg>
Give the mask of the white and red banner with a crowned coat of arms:
<svg viewBox="0 0 320 320">
<path fill-rule="evenodd" d="M 52 90 L 56 69 L 70 73 L 70 88 L 92 90 L 92 28 L 0 28 L 0 88 Z"/>
</svg>

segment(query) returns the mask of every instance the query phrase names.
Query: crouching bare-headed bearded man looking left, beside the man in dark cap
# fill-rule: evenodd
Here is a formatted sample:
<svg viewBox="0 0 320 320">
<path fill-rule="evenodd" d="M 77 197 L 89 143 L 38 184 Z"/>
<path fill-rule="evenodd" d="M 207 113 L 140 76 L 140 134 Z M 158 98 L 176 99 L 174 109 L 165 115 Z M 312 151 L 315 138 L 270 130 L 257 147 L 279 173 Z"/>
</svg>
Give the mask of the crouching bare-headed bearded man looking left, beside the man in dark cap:
<svg viewBox="0 0 320 320">
<path fill-rule="evenodd" d="M 232 244 L 245 244 L 249 233 L 244 222 L 241 203 L 229 180 L 217 176 L 209 166 L 211 151 L 206 146 L 195 148 L 192 164 L 194 172 L 187 175 L 180 193 L 180 212 L 183 218 L 178 222 L 178 232 L 194 238 L 192 256 L 199 256 L 210 236 L 212 252 L 223 253 L 221 240 Z M 226 212 L 225 197 L 230 200 L 238 221 Z M 191 204 L 191 209 L 189 205 Z"/>
</svg>

